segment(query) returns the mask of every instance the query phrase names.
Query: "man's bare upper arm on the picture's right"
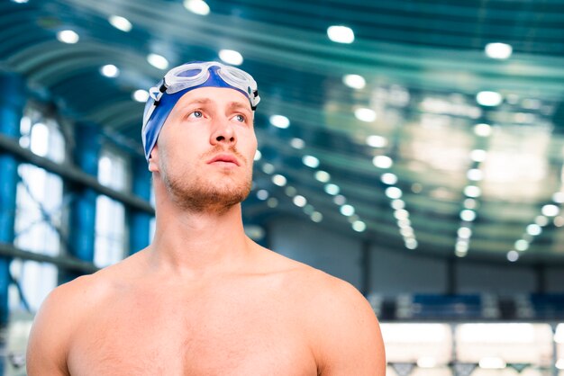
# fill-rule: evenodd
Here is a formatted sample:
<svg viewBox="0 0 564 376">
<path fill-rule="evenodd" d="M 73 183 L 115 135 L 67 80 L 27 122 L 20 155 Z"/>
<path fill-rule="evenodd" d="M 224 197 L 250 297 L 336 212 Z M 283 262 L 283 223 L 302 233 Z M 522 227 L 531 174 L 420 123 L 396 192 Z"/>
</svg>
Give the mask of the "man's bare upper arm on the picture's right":
<svg viewBox="0 0 564 376">
<path fill-rule="evenodd" d="M 320 374 L 385 376 L 386 354 L 378 318 L 368 301 L 347 282 L 331 284 L 323 298 L 316 344 Z"/>
</svg>

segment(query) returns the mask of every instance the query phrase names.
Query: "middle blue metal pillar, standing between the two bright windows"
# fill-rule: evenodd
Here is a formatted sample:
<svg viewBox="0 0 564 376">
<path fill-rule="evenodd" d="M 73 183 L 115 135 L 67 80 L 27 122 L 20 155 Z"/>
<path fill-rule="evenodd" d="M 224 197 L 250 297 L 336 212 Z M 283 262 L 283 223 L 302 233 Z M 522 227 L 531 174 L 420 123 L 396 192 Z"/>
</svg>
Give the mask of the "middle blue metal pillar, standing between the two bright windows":
<svg viewBox="0 0 564 376">
<path fill-rule="evenodd" d="M 101 135 L 99 127 L 94 124 L 77 124 L 75 129 L 75 148 L 73 157 L 75 164 L 86 174 L 97 176 L 98 156 L 100 153 Z M 92 188 L 84 186 L 67 190 L 73 195 L 69 213 L 69 254 L 86 262 L 94 261 L 94 244 L 96 229 L 96 197 Z M 71 271 L 60 271 L 59 283 L 77 278 L 80 274 Z"/>
</svg>

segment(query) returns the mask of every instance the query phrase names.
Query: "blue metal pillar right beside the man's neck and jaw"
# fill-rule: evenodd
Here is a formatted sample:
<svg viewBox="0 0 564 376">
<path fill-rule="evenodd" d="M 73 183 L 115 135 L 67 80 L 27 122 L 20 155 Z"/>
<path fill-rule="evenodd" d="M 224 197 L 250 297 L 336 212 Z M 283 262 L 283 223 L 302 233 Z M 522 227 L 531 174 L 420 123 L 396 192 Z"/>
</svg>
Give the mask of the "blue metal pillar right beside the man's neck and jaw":
<svg viewBox="0 0 564 376">
<path fill-rule="evenodd" d="M 134 157 L 132 159 L 132 192 L 146 201 L 150 201 L 150 177 L 145 158 Z M 129 217 L 129 253 L 132 255 L 149 246 L 151 216 L 144 211 L 131 210 Z"/>
</svg>

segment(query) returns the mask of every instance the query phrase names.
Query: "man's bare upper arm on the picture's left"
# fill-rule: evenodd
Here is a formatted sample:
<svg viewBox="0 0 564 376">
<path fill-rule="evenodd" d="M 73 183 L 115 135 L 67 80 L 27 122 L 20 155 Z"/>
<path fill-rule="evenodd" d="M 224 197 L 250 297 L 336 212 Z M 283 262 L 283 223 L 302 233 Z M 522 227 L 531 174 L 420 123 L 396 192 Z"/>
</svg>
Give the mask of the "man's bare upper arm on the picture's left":
<svg viewBox="0 0 564 376">
<path fill-rule="evenodd" d="M 68 375 L 69 320 L 73 316 L 69 292 L 67 286 L 51 291 L 33 320 L 26 354 L 29 376 Z"/>
</svg>

